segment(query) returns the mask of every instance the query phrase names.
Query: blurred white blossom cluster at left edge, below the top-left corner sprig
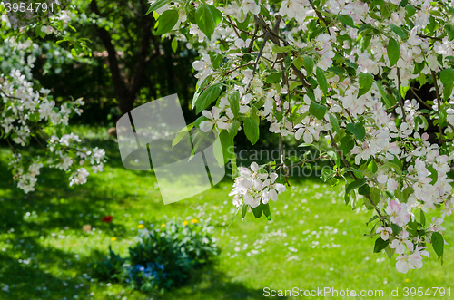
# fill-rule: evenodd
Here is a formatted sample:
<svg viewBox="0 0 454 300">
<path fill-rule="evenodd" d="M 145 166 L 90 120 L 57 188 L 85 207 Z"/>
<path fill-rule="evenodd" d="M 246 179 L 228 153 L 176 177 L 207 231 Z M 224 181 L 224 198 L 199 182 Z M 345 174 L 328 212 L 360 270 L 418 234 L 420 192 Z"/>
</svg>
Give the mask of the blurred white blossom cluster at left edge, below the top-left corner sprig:
<svg viewBox="0 0 454 300">
<path fill-rule="evenodd" d="M 70 172 L 70 186 L 84 184 L 89 175 L 84 165 L 90 164 L 94 172 L 102 171 L 105 155 L 102 149 L 82 147 L 82 140 L 74 133 L 59 133 L 74 114 L 82 113 L 84 101 L 56 103 L 50 90 L 36 90 L 31 72 L 39 53 L 36 48 L 30 40 L 18 42 L 14 38 L 0 46 L 0 53 L 8 57 L 0 73 L 1 138 L 12 148 L 9 167 L 18 188 L 25 193 L 35 190 L 44 166 Z M 44 156 L 23 151 L 32 139 L 45 150 Z"/>
</svg>

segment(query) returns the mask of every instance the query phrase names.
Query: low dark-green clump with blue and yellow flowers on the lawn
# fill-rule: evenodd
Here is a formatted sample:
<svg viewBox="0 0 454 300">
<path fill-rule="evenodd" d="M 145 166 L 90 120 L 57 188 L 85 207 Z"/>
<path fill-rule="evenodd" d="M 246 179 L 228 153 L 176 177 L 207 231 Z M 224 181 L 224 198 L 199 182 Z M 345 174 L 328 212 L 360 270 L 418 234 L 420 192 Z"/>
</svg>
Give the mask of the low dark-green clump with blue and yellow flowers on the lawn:
<svg viewBox="0 0 454 300">
<path fill-rule="evenodd" d="M 194 269 L 218 255 L 210 227 L 202 226 L 197 219 L 192 219 L 192 224 L 171 220 L 151 227 L 141 230 L 127 258 L 109 247 L 106 260 L 94 263 L 94 277 L 123 282 L 143 292 L 168 290 L 184 285 Z"/>
</svg>

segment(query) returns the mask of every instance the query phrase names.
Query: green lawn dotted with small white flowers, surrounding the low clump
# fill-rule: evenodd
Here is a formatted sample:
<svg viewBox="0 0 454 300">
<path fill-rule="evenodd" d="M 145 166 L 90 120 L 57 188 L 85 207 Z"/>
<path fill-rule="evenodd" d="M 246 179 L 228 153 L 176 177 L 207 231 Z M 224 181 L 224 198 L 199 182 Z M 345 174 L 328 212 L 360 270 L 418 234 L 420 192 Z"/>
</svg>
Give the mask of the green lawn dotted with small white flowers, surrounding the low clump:
<svg viewBox="0 0 454 300">
<path fill-rule="evenodd" d="M 163 205 L 153 172 L 123 169 L 113 141 L 98 145 L 110 157 L 103 173 L 92 173 L 84 186 L 69 188 L 63 172 L 44 170 L 29 195 L 15 188 L 6 170 L 9 150 L 0 151 L 0 299 L 264 299 L 264 287 L 380 289 L 385 299 L 390 288 L 399 288 L 400 296 L 393 298 L 404 299 L 404 287 L 452 284 L 450 246 L 443 266 L 430 248 L 423 269 L 407 275 L 396 271 L 395 256 L 390 260 L 373 254 L 373 240 L 363 237 L 370 231 L 365 223 L 371 213 L 345 206 L 342 187 L 290 179 L 291 189 L 271 203 L 271 222 L 250 213 L 243 222 L 237 216 L 227 228 L 234 211 L 230 179 L 196 197 Z M 103 223 L 104 215 L 112 215 L 113 222 Z M 169 218 L 197 218 L 214 227 L 222 253 L 213 266 L 194 272 L 187 285 L 165 295 L 143 295 L 90 277 L 89 263 L 103 258 L 109 245 L 125 256 L 140 222 L 148 226 Z M 453 223 L 447 219 L 450 242 Z M 85 224 L 95 229 L 85 233 Z M 5 285 L 9 292 L 1 290 Z M 429 298 L 440 297 L 419 297 Z"/>
</svg>

